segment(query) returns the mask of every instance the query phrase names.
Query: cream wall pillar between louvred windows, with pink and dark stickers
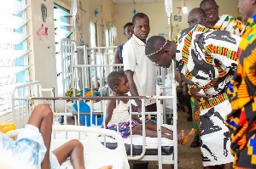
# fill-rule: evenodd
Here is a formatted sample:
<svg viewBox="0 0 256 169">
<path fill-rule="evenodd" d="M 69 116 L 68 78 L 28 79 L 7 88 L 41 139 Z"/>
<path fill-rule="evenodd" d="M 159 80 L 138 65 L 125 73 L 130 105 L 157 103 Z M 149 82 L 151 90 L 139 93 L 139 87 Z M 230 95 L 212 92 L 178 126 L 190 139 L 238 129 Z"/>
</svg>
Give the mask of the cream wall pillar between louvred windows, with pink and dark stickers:
<svg viewBox="0 0 256 169">
<path fill-rule="evenodd" d="M 44 23 L 41 14 L 41 3 L 47 7 L 47 18 Z M 33 65 L 30 71 L 32 81 L 40 81 L 44 88 L 56 87 L 56 69 L 55 69 L 55 31 L 53 18 L 53 2 L 48 0 L 34 1 L 29 0 L 28 4 L 28 23 L 29 54 L 30 65 Z M 43 40 L 38 40 L 38 29 L 44 24 L 48 27 L 48 36 L 42 36 Z"/>
</svg>

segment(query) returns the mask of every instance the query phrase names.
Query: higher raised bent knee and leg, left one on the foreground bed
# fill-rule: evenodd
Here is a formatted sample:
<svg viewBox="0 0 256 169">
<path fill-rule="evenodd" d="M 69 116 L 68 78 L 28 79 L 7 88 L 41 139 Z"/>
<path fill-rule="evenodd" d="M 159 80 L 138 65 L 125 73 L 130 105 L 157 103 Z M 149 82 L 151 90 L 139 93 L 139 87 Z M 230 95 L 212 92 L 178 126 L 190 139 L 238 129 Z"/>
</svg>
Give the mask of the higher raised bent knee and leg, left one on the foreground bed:
<svg viewBox="0 0 256 169">
<path fill-rule="evenodd" d="M 32 115 L 27 122 L 27 124 L 38 127 L 44 139 L 44 145 L 47 151 L 44 155 L 44 161 L 41 164 L 42 168 L 49 168 L 49 146 L 51 141 L 52 121 L 53 113 L 49 105 L 39 104 L 32 111 Z"/>
</svg>

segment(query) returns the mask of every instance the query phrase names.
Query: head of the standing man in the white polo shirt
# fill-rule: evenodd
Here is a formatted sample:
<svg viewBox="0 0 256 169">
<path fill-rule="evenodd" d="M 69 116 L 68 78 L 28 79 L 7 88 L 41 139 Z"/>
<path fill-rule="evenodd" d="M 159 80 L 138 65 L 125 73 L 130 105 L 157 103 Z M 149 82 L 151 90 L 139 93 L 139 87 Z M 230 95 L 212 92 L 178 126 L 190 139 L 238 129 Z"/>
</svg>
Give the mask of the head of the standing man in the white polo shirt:
<svg viewBox="0 0 256 169">
<path fill-rule="evenodd" d="M 143 13 L 137 13 L 132 17 L 132 24 L 134 26 L 134 35 L 143 42 L 146 42 L 150 31 L 148 16 Z"/>
</svg>

